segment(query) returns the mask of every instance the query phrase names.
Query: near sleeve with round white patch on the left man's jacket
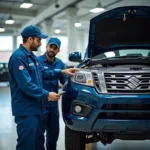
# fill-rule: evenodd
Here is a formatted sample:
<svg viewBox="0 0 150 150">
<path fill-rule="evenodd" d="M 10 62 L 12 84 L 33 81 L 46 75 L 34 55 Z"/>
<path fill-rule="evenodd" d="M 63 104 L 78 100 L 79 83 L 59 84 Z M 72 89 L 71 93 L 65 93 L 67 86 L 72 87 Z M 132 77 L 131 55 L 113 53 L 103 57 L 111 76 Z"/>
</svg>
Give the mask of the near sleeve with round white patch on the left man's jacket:
<svg viewBox="0 0 150 150">
<path fill-rule="evenodd" d="M 33 79 L 28 72 L 26 61 L 23 58 L 17 56 L 13 57 L 13 59 L 11 58 L 9 70 L 24 93 L 34 98 L 47 99 L 49 97 L 48 91 L 32 82 Z"/>
</svg>

